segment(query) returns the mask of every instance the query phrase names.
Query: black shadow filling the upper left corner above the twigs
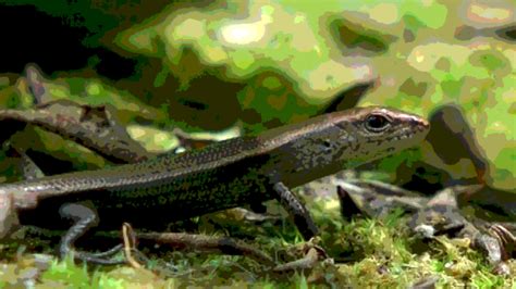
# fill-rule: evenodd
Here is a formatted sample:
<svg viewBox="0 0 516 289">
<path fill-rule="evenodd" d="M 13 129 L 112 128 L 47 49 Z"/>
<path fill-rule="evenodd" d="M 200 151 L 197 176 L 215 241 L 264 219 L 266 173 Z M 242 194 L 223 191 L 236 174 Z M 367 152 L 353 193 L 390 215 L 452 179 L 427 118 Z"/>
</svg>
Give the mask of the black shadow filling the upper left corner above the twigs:
<svg viewBox="0 0 516 289">
<path fill-rule="evenodd" d="M 135 72 L 135 60 L 102 47 L 87 47 L 84 39 L 93 33 L 86 27 L 72 26 L 64 17 L 51 16 L 32 5 L 0 4 L 0 73 L 21 73 L 27 63 L 36 63 L 49 75 L 91 66 L 113 80 Z"/>
</svg>

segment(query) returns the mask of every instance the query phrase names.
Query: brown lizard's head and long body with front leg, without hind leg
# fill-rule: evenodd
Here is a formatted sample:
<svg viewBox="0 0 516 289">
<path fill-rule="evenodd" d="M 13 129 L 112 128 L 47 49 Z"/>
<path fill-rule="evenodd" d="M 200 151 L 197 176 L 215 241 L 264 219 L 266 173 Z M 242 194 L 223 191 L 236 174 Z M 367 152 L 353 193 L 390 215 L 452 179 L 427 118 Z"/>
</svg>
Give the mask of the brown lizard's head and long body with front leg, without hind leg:
<svg viewBox="0 0 516 289">
<path fill-rule="evenodd" d="M 0 197 L 13 193 L 20 222 L 42 227 L 63 224 L 57 212 L 67 202 L 93 203 L 100 226 L 149 227 L 277 198 L 309 238 L 317 228 L 288 188 L 413 147 L 428 130 L 402 111 L 353 109 L 182 154 L 2 185 Z"/>
</svg>

